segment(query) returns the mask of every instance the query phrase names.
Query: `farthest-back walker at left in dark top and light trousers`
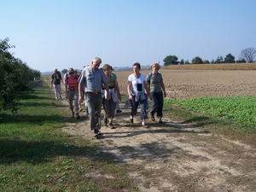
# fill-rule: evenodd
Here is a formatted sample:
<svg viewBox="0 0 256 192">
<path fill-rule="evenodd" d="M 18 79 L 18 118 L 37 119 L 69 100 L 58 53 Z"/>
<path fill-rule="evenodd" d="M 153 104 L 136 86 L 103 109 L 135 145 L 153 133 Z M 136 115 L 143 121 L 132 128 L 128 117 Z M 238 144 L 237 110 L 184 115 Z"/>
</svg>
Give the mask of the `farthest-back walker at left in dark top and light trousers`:
<svg viewBox="0 0 256 192">
<path fill-rule="evenodd" d="M 54 73 L 51 75 L 50 81 L 50 89 L 54 87 L 55 89 L 55 100 L 58 101 L 59 98 L 61 99 L 61 73 L 58 71 L 57 68 L 54 68 Z"/>
</svg>

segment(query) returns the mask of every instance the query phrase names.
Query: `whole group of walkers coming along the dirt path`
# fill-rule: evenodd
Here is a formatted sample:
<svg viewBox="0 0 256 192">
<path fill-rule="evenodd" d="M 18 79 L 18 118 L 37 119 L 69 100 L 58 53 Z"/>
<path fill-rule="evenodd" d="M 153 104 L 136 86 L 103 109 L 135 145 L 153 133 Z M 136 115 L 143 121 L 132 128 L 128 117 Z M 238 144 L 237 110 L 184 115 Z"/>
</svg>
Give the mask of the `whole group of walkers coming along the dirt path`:
<svg viewBox="0 0 256 192">
<path fill-rule="evenodd" d="M 121 101 L 119 84 L 116 75 L 112 73 L 113 68 L 105 64 L 102 68 L 100 65 L 102 59 L 93 58 L 89 66 L 83 67 L 78 75 L 77 71 L 69 68 L 67 74 L 64 75 L 66 98 L 69 102 L 69 108 L 72 111 L 72 117 L 79 119 L 79 105 L 85 100 L 85 106 L 88 110 L 90 118 L 90 130 L 94 131 L 94 137 L 101 135 L 101 110 L 104 109 L 104 125 L 110 126 L 112 129 L 114 113 L 118 111 L 117 104 Z M 133 124 L 134 115 L 137 114 L 137 108 L 140 105 L 140 116 L 142 126 L 148 128 L 145 119 L 148 119 L 148 98 L 152 101 L 152 107 L 149 116 L 155 121 L 156 113 L 158 123 L 162 123 L 164 97 L 166 97 L 166 88 L 161 73 L 159 73 L 160 65 L 154 63 L 152 72 L 147 77 L 140 73 L 141 65 L 136 62 L 132 66 L 133 73 L 128 77 L 128 102 L 130 102 L 131 113 L 130 122 Z M 61 99 L 61 77 L 57 69 L 54 69 L 51 77 L 51 85 L 55 88 L 55 99 Z M 74 107 L 73 107 L 74 102 Z"/>
</svg>

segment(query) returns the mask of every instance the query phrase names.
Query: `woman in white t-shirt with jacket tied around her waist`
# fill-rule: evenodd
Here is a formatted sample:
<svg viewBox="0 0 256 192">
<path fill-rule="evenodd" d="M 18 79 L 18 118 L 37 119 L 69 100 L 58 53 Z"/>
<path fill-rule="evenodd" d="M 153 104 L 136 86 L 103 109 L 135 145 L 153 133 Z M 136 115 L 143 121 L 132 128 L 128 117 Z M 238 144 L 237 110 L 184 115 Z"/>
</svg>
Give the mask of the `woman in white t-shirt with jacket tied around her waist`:
<svg viewBox="0 0 256 192">
<path fill-rule="evenodd" d="M 133 123 L 133 116 L 137 113 L 138 105 L 140 105 L 142 125 L 143 127 L 148 128 L 149 126 L 145 123 L 145 119 L 148 119 L 146 109 L 148 107 L 148 97 L 150 100 L 152 100 L 152 96 L 150 96 L 148 86 L 146 84 L 145 75 L 143 75 L 143 73 L 140 73 L 140 63 L 134 63 L 132 66 L 132 70 L 133 73 L 128 77 L 127 86 L 128 96 L 131 101 L 130 122 Z"/>
</svg>

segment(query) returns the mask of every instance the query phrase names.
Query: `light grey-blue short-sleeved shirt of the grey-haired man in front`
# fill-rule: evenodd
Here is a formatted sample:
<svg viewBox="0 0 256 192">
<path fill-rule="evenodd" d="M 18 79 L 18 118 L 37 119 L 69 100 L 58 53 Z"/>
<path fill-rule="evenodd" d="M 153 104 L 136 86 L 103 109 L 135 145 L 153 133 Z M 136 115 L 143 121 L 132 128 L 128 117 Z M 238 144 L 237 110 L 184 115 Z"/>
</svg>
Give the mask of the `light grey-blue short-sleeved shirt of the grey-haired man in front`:
<svg viewBox="0 0 256 192">
<path fill-rule="evenodd" d="M 84 84 L 85 92 L 98 92 L 102 90 L 102 84 L 107 84 L 108 79 L 102 69 L 94 70 L 91 66 L 84 67 L 80 73 L 79 84 Z"/>
</svg>

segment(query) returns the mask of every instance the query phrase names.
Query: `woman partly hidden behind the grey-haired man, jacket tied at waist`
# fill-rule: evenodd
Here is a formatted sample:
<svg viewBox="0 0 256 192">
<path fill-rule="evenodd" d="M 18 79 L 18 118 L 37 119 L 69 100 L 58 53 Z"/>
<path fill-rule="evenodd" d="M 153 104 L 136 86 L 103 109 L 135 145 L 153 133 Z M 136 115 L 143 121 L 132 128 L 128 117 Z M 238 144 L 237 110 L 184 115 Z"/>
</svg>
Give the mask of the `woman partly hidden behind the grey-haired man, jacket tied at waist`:
<svg viewBox="0 0 256 192">
<path fill-rule="evenodd" d="M 111 129 L 114 128 L 113 126 L 113 117 L 114 117 L 114 112 L 115 112 L 115 108 L 116 108 L 116 103 L 118 101 L 121 101 L 121 95 L 120 95 L 120 90 L 119 90 L 119 84 L 116 80 L 116 78 L 114 78 L 113 74 L 111 73 L 112 71 L 112 67 L 108 64 L 105 64 L 102 67 L 103 72 L 105 73 L 107 79 L 108 79 L 108 89 L 109 89 L 109 93 L 111 96 L 111 99 L 108 100 L 108 98 L 106 97 L 106 91 L 105 88 L 102 87 L 102 102 L 103 102 L 103 106 L 104 106 L 104 124 L 107 126 L 109 125 L 111 127 Z"/>
</svg>

